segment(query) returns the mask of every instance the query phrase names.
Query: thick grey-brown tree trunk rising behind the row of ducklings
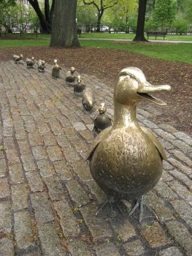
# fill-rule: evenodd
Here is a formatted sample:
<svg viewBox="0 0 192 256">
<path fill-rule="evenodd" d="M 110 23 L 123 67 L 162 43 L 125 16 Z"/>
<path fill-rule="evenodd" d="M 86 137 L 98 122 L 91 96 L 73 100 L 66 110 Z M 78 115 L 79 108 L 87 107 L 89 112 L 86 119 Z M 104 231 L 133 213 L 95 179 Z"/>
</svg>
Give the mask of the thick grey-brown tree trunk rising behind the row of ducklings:
<svg viewBox="0 0 192 256">
<path fill-rule="evenodd" d="M 76 26 L 77 0 L 57 0 L 53 12 L 51 47 L 80 47 Z"/>
</svg>

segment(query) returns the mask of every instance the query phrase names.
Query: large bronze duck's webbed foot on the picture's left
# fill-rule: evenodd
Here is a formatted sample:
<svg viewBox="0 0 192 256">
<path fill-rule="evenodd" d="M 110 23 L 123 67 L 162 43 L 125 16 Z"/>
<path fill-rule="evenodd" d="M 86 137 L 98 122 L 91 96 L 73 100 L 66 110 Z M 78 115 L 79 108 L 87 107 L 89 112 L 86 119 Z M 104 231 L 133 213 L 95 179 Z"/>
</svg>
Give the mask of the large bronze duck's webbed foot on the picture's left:
<svg viewBox="0 0 192 256">
<path fill-rule="evenodd" d="M 111 217 L 114 219 L 117 216 L 117 212 L 115 211 L 117 208 L 120 211 L 120 214 L 124 215 L 123 209 L 119 205 L 119 200 L 116 200 L 112 196 L 107 196 L 107 200 L 104 201 L 104 203 L 99 207 L 99 209 L 96 211 L 96 216 L 99 214 L 101 210 L 103 210 L 107 205 L 110 206 L 110 212 Z"/>
</svg>

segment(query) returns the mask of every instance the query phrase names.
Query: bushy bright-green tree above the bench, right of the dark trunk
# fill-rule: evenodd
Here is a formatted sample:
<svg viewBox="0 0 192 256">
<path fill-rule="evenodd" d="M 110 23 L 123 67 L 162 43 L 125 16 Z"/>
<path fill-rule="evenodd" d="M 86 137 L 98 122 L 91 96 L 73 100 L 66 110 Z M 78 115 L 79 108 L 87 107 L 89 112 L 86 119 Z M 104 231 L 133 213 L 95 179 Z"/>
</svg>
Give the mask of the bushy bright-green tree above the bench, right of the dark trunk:
<svg viewBox="0 0 192 256">
<path fill-rule="evenodd" d="M 161 27 L 161 30 L 170 28 L 176 15 L 175 0 L 156 0 L 153 19 Z"/>
</svg>

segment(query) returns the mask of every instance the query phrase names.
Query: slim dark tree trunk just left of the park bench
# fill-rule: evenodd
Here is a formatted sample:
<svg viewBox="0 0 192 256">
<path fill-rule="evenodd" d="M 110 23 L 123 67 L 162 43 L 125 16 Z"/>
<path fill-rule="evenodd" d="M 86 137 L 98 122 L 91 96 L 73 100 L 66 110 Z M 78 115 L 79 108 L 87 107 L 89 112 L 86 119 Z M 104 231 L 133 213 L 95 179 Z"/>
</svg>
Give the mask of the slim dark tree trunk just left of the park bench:
<svg viewBox="0 0 192 256">
<path fill-rule="evenodd" d="M 134 41 L 147 42 L 147 39 L 144 36 L 146 6 L 147 6 L 147 0 L 139 0 L 137 31 L 136 31 L 136 36 L 134 37 Z"/>
</svg>

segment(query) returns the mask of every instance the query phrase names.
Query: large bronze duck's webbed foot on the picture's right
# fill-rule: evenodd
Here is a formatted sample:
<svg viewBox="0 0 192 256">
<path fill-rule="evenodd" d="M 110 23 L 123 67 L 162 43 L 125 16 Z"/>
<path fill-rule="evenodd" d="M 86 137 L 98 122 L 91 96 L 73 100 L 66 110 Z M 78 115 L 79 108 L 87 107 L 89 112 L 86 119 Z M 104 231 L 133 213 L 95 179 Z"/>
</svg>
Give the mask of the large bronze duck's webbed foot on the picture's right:
<svg viewBox="0 0 192 256">
<path fill-rule="evenodd" d="M 142 197 L 137 200 L 137 202 L 135 203 L 134 207 L 133 207 L 133 208 L 131 209 L 131 211 L 129 212 L 128 216 L 131 216 L 131 215 L 134 213 L 134 211 L 135 211 L 137 208 L 139 208 L 139 223 L 142 222 L 144 219 L 147 219 L 147 218 L 158 219 L 157 215 L 155 214 L 155 212 L 154 212 L 152 209 L 150 209 L 150 210 L 153 212 L 153 214 L 152 214 L 151 212 L 150 212 L 149 215 L 147 215 L 147 214 L 144 213 L 143 198 L 144 198 L 144 197 L 143 197 L 143 195 L 142 195 Z M 149 211 L 148 211 L 148 212 L 149 212 Z"/>
</svg>

